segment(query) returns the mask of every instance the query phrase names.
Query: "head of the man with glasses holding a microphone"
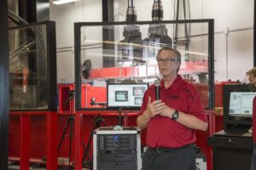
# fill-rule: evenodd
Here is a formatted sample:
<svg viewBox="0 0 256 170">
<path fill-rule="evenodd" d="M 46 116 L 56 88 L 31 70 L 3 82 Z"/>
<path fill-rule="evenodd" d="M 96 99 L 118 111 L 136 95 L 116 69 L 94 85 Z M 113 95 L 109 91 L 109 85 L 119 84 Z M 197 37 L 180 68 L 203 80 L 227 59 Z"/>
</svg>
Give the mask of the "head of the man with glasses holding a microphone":
<svg viewBox="0 0 256 170">
<path fill-rule="evenodd" d="M 177 75 L 177 68 L 180 65 L 180 61 L 177 61 L 176 54 L 170 50 L 163 50 L 156 59 L 160 74 L 163 77 Z"/>
</svg>

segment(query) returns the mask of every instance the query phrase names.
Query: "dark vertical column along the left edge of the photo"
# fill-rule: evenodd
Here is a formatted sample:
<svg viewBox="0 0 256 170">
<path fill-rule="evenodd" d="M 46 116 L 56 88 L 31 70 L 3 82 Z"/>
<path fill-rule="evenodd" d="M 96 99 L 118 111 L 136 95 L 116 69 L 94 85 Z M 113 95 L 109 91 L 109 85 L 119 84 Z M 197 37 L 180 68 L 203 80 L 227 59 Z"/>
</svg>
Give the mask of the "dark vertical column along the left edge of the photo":
<svg viewBox="0 0 256 170">
<path fill-rule="evenodd" d="M 0 1 L 0 169 L 8 169 L 9 150 L 9 37 L 8 3 Z"/>
</svg>

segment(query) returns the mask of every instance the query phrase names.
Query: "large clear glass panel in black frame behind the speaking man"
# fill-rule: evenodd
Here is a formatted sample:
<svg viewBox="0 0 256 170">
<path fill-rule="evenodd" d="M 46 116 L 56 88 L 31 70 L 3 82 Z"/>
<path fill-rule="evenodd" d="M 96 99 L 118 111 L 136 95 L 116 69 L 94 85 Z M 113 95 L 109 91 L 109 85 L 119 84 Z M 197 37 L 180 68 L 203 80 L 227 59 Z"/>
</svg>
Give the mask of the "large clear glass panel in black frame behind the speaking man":
<svg viewBox="0 0 256 170">
<path fill-rule="evenodd" d="M 208 107 L 207 22 L 81 26 L 80 31 L 82 108 L 106 107 L 91 101 L 107 102 L 107 82 L 153 83 L 160 77 L 155 57 L 163 46 L 180 51 L 178 74 L 195 84 Z M 98 94 L 90 94 L 89 88 Z"/>
</svg>

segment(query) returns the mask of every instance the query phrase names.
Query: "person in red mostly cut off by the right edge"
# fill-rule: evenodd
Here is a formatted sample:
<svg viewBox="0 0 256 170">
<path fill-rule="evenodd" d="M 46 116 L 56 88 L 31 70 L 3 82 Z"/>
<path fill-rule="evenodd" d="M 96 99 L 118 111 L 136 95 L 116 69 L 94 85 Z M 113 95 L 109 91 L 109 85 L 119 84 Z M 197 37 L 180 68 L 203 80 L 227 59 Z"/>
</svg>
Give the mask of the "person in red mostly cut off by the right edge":
<svg viewBox="0 0 256 170">
<path fill-rule="evenodd" d="M 249 77 L 249 89 L 256 92 L 256 67 L 247 71 L 247 76 Z M 252 170 L 256 170 L 256 97 L 253 99 L 253 143 Z"/>
</svg>

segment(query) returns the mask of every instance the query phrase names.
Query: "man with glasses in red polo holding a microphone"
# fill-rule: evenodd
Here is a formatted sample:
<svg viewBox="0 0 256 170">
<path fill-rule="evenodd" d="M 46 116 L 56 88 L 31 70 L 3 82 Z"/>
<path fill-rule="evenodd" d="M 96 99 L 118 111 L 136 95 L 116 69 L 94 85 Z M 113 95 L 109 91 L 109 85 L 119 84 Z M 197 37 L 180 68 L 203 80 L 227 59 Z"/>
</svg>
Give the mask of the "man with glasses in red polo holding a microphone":
<svg viewBox="0 0 256 170">
<path fill-rule="evenodd" d="M 160 99 L 154 100 L 151 85 L 137 117 L 137 126 L 147 128 L 143 170 L 195 170 L 195 130 L 208 126 L 204 107 L 195 87 L 177 75 L 181 54 L 161 48 L 156 59 L 163 77 Z"/>
</svg>

